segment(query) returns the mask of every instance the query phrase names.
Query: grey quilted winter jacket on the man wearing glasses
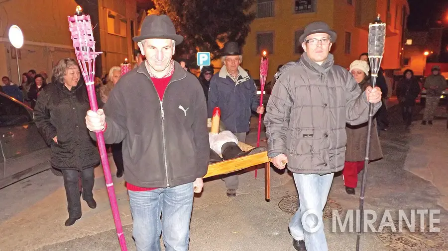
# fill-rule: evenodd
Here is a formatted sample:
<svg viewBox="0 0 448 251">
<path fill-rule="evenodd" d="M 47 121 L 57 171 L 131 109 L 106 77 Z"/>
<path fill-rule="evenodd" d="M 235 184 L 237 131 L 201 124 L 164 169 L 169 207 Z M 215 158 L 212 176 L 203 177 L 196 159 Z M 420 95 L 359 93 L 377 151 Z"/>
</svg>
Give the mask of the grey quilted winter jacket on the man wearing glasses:
<svg viewBox="0 0 448 251">
<path fill-rule="evenodd" d="M 375 104 L 376 112 L 381 103 Z M 345 123 L 368 120 L 369 103 L 352 75 L 334 65 L 333 55 L 322 64 L 303 54 L 277 74 L 264 124 L 268 156 L 288 157 L 288 169 L 300 174 L 330 174 L 344 167 Z"/>
</svg>

